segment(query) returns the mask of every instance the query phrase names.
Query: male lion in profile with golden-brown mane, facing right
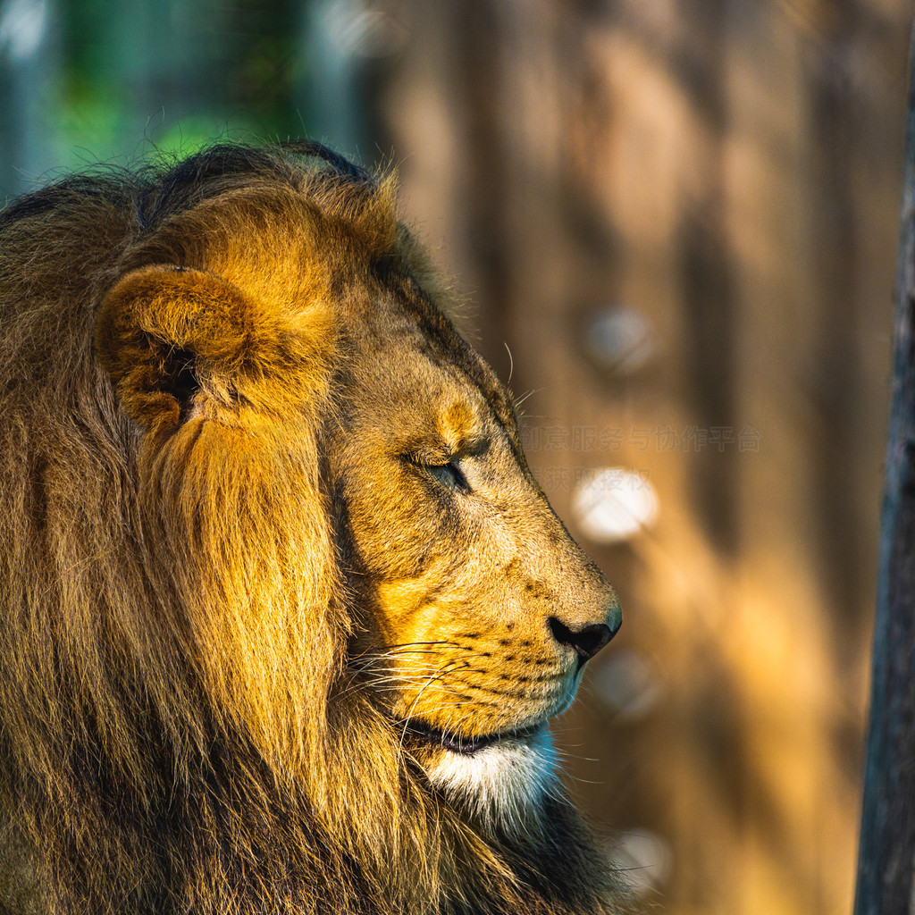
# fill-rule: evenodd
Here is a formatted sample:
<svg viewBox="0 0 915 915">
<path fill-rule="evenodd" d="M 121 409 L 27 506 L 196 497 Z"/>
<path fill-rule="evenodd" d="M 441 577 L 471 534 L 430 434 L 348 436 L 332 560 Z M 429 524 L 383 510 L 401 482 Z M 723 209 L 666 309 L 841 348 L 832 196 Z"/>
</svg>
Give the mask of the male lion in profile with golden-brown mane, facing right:
<svg viewBox="0 0 915 915">
<path fill-rule="evenodd" d="M 376 178 L 0 214 L 0 910 L 609 913 L 549 720 L 619 602 Z"/>
</svg>

